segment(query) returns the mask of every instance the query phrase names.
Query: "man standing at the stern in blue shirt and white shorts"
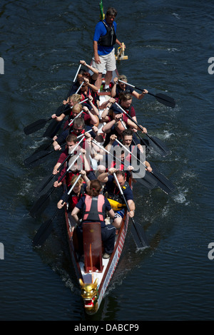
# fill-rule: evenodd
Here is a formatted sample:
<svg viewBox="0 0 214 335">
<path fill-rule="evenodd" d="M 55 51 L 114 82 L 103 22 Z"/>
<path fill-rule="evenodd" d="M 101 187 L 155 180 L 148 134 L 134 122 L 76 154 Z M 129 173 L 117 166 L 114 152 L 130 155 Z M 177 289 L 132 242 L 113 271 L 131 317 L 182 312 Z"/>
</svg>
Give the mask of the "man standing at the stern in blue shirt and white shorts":
<svg viewBox="0 0 214 335">
<path fill-rule="evenodd" d="M 93 35 L 93 63 L 92 66 L 98 70 L 96 87 L 101 88 L 102 74 L 106 68 L 105 91 L 109 90 L 112 72 L 116 70 L 116 58 L 114 44 L 122 46 L 122 43 L 116 38 L 116 18 L 117 11 L 113 7 L 106 11 L 106 18 L 96 24 Z"/>
</svg>

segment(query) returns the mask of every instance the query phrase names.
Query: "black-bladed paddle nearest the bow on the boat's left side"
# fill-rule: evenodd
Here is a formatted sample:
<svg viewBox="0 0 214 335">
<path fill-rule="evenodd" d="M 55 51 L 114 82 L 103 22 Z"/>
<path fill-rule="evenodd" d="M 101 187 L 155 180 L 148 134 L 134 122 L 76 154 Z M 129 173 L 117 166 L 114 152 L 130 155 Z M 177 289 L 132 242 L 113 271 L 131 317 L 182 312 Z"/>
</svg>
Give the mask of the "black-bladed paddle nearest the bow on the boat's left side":
<svg viewBox="0 0 214 335">
<path fill-rule="evenodd" d="M 76 186 L 76 183 L 78 182 L 78 180 L 81 178 L 81 175 L 78 175 L 76 181 L 73 183 L 71 189 L 68 191 L 68 194 L 66 195 L 65 200 L 63 200 L 62 205 L 68 201 L 68 197 L 71 194 L 73 188 Z M 44 244 L 44 242 L 46 241 L 46 239 L 49 237 L 49 235 L 51 234 L 52 230 L 53 230 L 53 221 L 54 218 L 56 217 L 58 213 L 58 209 L 56 210 L 56 212 L 54 213 L 53 217 L 51 217 L 51 219 L 47 220 L 46 222 L 44 222 L 40 227 L 39 230 L 36 232 L 36 235 L 34 236 L 33 239 L 33 244 L 34 247 L 37 247 L 38 245 L 42 245 Z"/>
</svg>

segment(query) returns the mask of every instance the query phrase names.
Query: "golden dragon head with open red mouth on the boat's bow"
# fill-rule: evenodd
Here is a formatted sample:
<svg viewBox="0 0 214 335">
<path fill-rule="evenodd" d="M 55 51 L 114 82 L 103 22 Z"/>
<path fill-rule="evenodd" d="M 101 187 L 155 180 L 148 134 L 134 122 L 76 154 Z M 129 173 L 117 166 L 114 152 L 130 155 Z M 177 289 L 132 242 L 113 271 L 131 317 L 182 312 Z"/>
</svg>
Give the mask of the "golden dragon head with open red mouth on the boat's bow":
<svg viewBox="0 0 214 335">
<path fill-rule="evenodd" d="M 86 313 L 93 314 L 98 309 L 98 278 L 94 283 L 85 284 L 82 279 L 79 279 L 79 283 L 81 285 L 81 297 L 84 301 L 84 307 L 86 309 Z"/>
</svg>

